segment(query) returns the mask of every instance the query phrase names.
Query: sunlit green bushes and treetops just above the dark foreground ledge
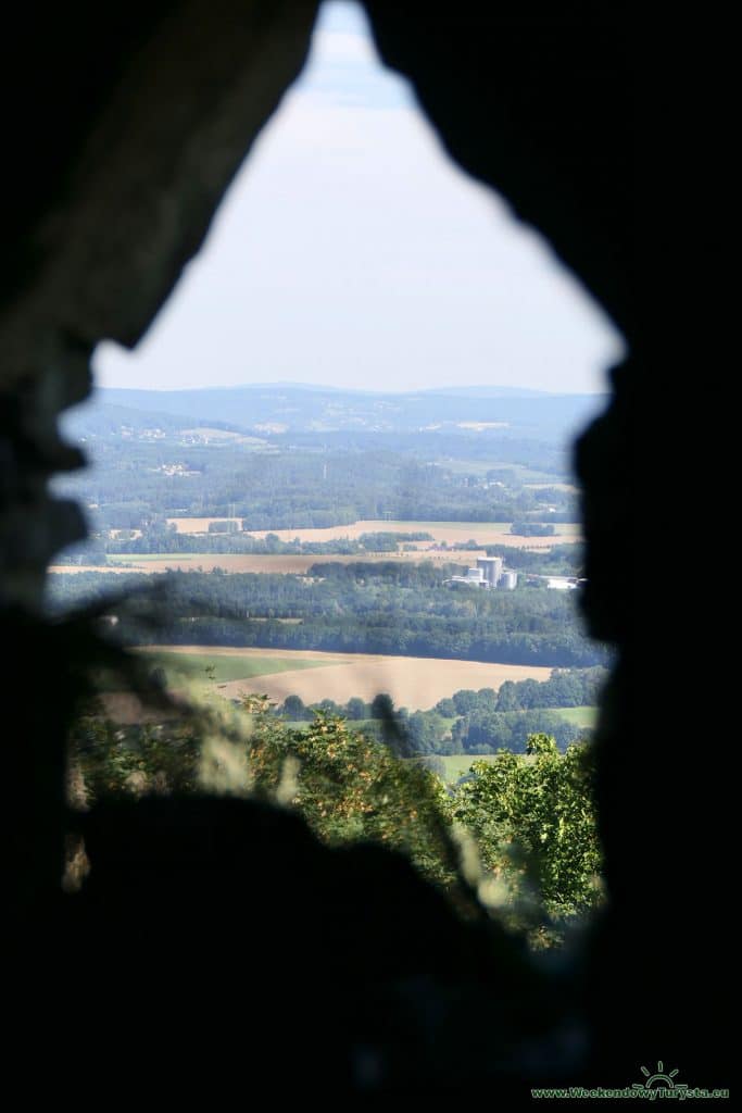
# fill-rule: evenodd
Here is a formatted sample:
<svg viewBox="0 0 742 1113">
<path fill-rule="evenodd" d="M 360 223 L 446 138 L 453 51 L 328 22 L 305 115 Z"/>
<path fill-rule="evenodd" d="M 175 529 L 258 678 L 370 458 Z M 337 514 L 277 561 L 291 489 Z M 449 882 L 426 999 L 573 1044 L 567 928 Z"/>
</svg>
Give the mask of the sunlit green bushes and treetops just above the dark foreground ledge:
<svg viewBox="0 0 742 1113">
<path fill-rule="evenodd" d="M 337 715 L 315 711 L 299 730 L 278 718 L 265 696 L 246 696 L 243 711 L 241 741 L 233 742 L 243 790 L 249 785 L 296 808 L 324 841 L 394 847 L 456 897 L 464 890 L 455 820 L 478 851 L 485 903 L 498 905 L 505 922 L 532 942 L 554 942 L 554 920 L 600 899 L 590 747 L 560 754 L 553 738 L 534 735 L 526 756 L 502 751 L 475 761 L 452 790 L 439 759 L 399 760 Z M 70 739 L 73 801 L 201 789 L 198 738 L 192 719 L 122 727 L 91 703 Z"/>
</svg>

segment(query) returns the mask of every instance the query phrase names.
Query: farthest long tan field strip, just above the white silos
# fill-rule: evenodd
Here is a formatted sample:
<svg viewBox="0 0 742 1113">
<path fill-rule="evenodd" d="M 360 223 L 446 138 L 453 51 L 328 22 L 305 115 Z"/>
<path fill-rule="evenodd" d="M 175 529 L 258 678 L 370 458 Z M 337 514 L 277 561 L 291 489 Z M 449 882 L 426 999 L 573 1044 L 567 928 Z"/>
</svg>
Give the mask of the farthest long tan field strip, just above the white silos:
<svg viewBox="0 0 742 1113">
<path fill-rule="evenodd" d="M 217 518 L 169 518 L 178 533 L 206 533 L 209 522 L 222 521 Z M 580 525 L 557 523 L 557 532 L 551 538 L 524 538 L 511 533 L 509 522 L 387 522 L 370 519 L 352 525 L 333 525 L 325 530 L 250 530 L 254 538 L 275 533 L 281 541 L 336 541 L 343 538 L 357 539 L 362 533 L 429 533 L 435 542 L 455 544 L 474 538 L 479 544 L 512 545 L 515 549 L 551 549 L 552 545 L 577 541 Z M 432 542 L 418 541 L 418 549 Z"/>
</svg>

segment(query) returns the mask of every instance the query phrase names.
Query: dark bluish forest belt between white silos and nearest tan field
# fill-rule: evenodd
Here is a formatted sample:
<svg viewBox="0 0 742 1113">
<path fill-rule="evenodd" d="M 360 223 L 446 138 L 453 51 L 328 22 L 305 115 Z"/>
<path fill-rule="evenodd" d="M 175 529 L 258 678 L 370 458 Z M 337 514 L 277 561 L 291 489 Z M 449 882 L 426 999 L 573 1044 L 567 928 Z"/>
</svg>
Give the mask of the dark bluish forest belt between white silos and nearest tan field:
<svg viewBox="0 0 742 1113">
<path fill-rule="evenodd" d="M 157 584 L 81 572 L 51 577 L 50 605 L 59 611 L 130 592 L 115 609 L 121 634 L 133 642 L 152 640 L 156 591 L 162 642 L 552 667 L 606 662 L 606 650 L 580 629 L 573 592 L 474 591 L 445 579 L 432 563 L 394 561 L 320 564 L 308 575 L 172 572 Z"/>
</svg>

